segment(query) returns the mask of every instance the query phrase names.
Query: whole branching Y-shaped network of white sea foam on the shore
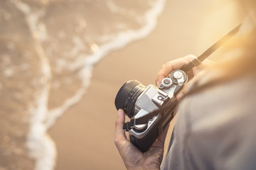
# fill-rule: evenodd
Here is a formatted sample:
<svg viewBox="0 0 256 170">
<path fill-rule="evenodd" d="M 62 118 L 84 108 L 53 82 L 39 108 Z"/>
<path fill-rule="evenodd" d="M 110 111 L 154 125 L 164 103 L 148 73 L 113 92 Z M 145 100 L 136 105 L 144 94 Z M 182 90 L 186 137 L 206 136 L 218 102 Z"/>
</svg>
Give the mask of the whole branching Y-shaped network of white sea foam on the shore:
<svg viewBox="0 0 256 170">
<path fill-rule="evenodd" d="M 65 113 L 71 106 L 78 103 L 82 96 L 86 93 L 87 87 L 90 86 L 90 79 L 92 77 L 92 69 L 94 65 L 99 62 L 102 57 L 107 56 L 113 50 L 121 49 L 134 40 L 145 38 L 155 28 L 157 17 L 163 11 L 166 0 L 145 1 L 147 10 L 139 15 L 134 13 L 125 6 L 119 6 L 115 1 L 106 1 L 105 6 L 107 10 L 118 15 L 133 18 L 134 21 L 140 23 L 141 26 L 137 28 L 127 28 L 125 23 L 117 24 L 120 30 L 112 35 L 105 35 L 100 38 L 102 42 L 90 45 L 92 52 L 81 52 L 83 49 L 88 48 L 85 40 L 77 35 L 73 35 L 73 48 L 70 49 L 69 56 L 73 57 L 73 62 L 67 60 L 56 59 L 55 68 L 52 68 L 48 54 L 53 51 L 51 47 L 44 46 L 43 43 L 53 40 L 50 33 L 50 28 L 47 23 L 44 23 L 41 18 L 47 14 L 46 8 L 35 10 L 29 4 L 22 1 L 12 1 L 13 4 L 20 10 L 28 24 L 33 41 L 35 43 L 36 52 L 41 62 L 41 81 L 43 87 L 40 92 L 35 96 L 36 101 L 29 112 L 31 113 L 30 125 L 31 128 L 28 132 L 27 147 L 30 156 L 36 160 L 36 170 L 50 170 L 55 166 L 55 158 L 57 157 L 55 144 L 48 136 L 48 129 L 52 127 L 56 120 Z M 46 6 L 47 7 L 47 6 Z M 81 26 L 86 26 L 86 23 L 80 22 Z M 123 29 L 126 28 L 126 29 Z M 80 32 L 78 28 L 76 31 Z M 60 32 L 58 37 L 65 38 L 65 31 Z M 54 42 L 51 45 L 54 47 Z M 60 56 L 61 57 L 61 56 Z M 78 70 L 76 75 L 81 81 L 81 86 L 75 90 L 72 96 L 68 97 L 59 106 L 49 108 L 48 102 L 50 97 L 50 82 L 55 81 L 53 72 L 62 72 L 63 69 L 68 69 L 70 72 Z M 56 71 L 55 71 L 56 70 Z"/>
</svg>

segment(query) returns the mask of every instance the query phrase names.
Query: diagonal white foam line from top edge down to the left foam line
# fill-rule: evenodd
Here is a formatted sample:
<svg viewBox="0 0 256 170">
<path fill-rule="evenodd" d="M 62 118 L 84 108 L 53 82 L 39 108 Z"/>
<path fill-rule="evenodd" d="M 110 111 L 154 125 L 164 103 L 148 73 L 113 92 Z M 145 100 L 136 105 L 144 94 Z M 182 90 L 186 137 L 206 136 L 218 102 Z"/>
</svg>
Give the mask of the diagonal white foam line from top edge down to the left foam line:
<svg viewBox="0 0 256 170">
<path fill-rule="evenodd" d="M 85 57 L 84 60 L 79 60 L 74 64 L 70 63 L 68 66 L 71 70 L 75 70 L 77 68 L 80 69 L 80 79 L 82 80 L 82 88 L 80 88 L 73 97 L 68 98 L 64 104 L 58 108 L 54 108 L 49 111 L 48 118 L 46 120 L 46 127 L 50 128 L 55 121 L 68 110 L 75 103 L 80 101 L 80 98 L 85 94 L 86 88 L 90 86 L 90 77 L 92 74 L 92 68 L 97 62 L 99 62 L 102 57 L 107 56 L 113 50 L 121 49 L 122 47 L 129 44 L 129 42 L 133 42 L 135 40 L 140 40 L 145 38 L 152 30 L 154 30 L 157 18 L 160 15 L 161 11 L 164 9 L 164 4 L 166 0 L 156 1 L 156 4 L 152 5 L 153 8 L 147 11 L 145 14 L 146 24 L 144 27 L 139 30 L 127 30 L 117 35 L 117 38 L 112 40 L 111 42 L 102 45 L 99 50 L 97 50 L 94 54 L 90 55 L 90 57 Z"/>
</svg>

